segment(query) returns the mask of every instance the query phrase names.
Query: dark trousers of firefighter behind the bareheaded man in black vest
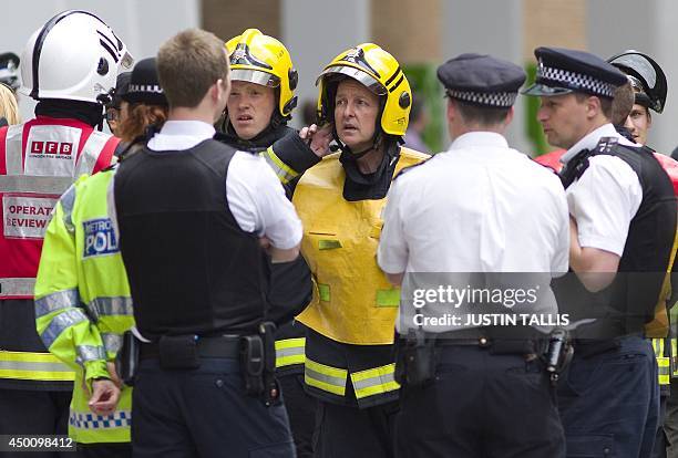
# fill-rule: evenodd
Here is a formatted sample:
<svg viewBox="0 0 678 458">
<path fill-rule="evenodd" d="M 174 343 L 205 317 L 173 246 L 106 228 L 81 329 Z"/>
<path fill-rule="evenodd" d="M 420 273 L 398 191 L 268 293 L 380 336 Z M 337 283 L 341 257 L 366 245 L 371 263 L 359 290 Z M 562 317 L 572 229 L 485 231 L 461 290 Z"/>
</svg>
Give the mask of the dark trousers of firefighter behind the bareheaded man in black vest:
<svg viewBox="0 0 678 458">
<path fill-rule="evenodd" d="M 297 458 L 311 458 L 318 400 L 304 389 L 304 374 L 279 375 L 278 382 L 285 396 Z"/>
</svg>

